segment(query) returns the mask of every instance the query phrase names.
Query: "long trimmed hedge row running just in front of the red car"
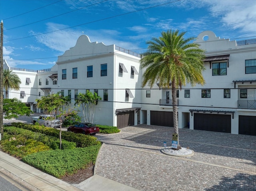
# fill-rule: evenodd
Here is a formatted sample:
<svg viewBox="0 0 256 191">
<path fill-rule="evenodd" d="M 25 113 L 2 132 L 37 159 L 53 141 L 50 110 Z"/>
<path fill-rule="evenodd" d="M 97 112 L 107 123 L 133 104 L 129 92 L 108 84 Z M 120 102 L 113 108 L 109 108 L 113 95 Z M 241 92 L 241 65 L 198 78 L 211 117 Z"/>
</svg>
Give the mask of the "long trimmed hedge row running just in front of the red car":
<svg viewBox="0 0 256 191">
<path fill-rule="evenodd" d="M 45 126 L 40 126 L 40 125 L 32 125 L 32 124 L 24 124 L 24 123 L 12 123 L 12 126 L 31 130 L 34 132 L 40 132 L 42 134 L 46 134 L 49 136 L 54 136 L 59 138 L 60 135 L 60 130 L 54 129 L 54 128 L 48 128 Z M 94 136 L 88 136 L 84 134 L 76 134 L 73 132 L 67 132 L 67 131 L 62 131 L 62 139 L 70 141 L 70 142 L 75 142 L 76 147 L 88 147 L 88 146 L 93 146 L 93 145 L 101 145 L 100 141 L 97 141 L 97 138 Z"/>
</svg>

